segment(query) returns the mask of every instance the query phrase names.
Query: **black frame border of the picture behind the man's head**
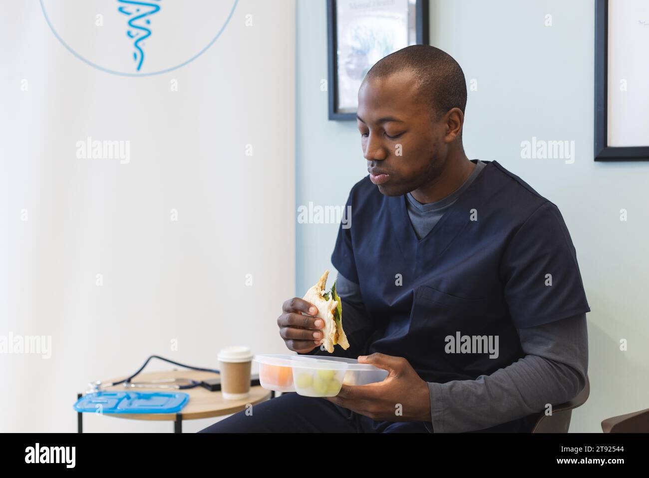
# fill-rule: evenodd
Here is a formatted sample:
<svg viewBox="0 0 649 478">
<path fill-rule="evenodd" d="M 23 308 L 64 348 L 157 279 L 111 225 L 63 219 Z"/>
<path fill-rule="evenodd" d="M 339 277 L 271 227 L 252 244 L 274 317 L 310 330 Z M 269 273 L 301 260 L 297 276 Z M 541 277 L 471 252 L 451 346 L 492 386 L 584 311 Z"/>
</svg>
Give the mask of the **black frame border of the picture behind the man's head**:
<svg viewBox="0 0 649 478">
<path fill-rule="evenodd" d="M 415 1 L 416 44 L 430 44 L 429 0 Z M 356 121 L 356 112 L 339 112 L 337 81 L 336 0 L 327 0 L 327 44 L 328 44 L 328 93 L 329 119 L 334 121 Z"/>
</svg>

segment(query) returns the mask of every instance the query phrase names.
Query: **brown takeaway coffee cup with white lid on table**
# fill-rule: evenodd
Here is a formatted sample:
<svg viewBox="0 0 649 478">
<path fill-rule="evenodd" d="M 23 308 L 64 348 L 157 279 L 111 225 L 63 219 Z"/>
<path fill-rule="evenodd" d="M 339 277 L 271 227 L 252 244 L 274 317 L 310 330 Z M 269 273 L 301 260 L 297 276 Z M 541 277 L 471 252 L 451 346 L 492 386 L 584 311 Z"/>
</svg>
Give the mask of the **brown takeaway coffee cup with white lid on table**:
<svg viewBox="0 0 649 478">
<path fill-rule="evenodd" d="M 227 400 L 250 396 L 252 352 L 248 347 L 227 347 L 219 352 L 221 394 Z"/>
</svg>

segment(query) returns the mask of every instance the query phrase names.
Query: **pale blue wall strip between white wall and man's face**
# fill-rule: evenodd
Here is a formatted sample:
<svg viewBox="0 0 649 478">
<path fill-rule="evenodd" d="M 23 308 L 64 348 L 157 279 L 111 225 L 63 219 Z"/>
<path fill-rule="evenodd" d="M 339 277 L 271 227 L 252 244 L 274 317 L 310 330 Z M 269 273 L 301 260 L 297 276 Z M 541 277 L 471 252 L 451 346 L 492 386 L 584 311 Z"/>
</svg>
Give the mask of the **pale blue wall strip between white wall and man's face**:
<svg viewBox="0 0 649 478">
<path fill-rule="evenodd" d="M 295 207 L 345 205 L 352 186 L 367 175 L 356 121 L 328 121 L 326 1 L 297 3 Z M 296 295 L 302 297 L 331 265 L 337 224 L 296 225 Z"/>
</svg>

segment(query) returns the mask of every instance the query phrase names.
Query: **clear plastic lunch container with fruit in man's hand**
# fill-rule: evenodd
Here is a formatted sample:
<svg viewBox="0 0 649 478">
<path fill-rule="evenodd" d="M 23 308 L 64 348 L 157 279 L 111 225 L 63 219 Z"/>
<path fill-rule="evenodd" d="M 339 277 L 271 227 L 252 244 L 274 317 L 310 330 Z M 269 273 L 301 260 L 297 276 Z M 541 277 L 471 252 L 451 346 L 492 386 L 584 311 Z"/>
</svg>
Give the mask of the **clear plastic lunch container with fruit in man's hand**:
<svg viewBox="0 0 649 478">
<path fill-rule="evenodd" d="M 308 397 L 333 397 L 341 386 L 381 382 L 387 370 L 356 359 L 323 355 L 255 355 L 263 388 L 297 392 Z"/>
</svg>

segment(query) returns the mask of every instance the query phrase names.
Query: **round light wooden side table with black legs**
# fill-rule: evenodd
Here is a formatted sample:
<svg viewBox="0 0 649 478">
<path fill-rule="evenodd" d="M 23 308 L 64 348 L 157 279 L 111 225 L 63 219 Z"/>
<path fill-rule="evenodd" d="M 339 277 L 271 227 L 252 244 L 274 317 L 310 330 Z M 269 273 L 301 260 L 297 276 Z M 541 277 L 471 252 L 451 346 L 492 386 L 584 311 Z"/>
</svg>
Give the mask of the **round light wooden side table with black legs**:
<svg viewBox="0 0 649 478">
<path fill-rule="evenodd" d="M 134 381 L 143 382 L 158 379 L 193 379 L 197 381 L 214 379 L 218 377 L 217 373 L 209 371 L 198 370 L 169 370 L 169 371 L 154 371 L 139 373 Z M 125 377 L 118 379 L 109 379 L 103 382 L 114 383 L 123 380 Z M 175 388 L 130 388 L 125 387 L 124 384 L 109 386 L 103 390 L 111 392 L 184 392 L 189 394 L 190 401 L 178 413 L 103 413 L 106 416 L 113 416 L 116 418 L 125 418 L 127 420 L 154 420 L 154 421 L 173 421 L 174 433 L 182 433 L 183 420 L 197 420 L 198 418 L 211 418 L 214 416 L 230 415 L 241 410 L 245 410 L 246 405 L 255 405 L 266 401 L 275 396 L 271 390 L 266 390 L 259 385 L 259 379 L 256 375 L 252 375 L 250 396 L 240 400 L 226 400 L 223 398 L 221 392 L 210 392 L 202 386 L 195 386 L 186 390 L 177 390 Z M 77 394 L 77 398 L 82 397 L 83 394 Z M 77 427 L 78 432 L 83 433 L 83 413 L 77 412 Z"/>
</svg>

